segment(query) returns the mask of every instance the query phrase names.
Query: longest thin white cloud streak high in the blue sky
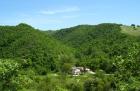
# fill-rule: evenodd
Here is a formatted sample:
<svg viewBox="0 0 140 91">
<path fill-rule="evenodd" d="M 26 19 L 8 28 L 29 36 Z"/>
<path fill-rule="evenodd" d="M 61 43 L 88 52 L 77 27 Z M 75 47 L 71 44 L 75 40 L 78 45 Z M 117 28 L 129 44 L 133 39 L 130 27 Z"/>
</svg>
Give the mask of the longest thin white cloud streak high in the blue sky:
<svg viewBox="0 0 140 91">
<path fill-rule="evenodd" d="M 59 14 L 59 13 L 69 13 L 69 12 L 76 12 L 79 11 L 80 9 L 78 7 L 69 7 L 65 9 L 57 9 L 57 10 L 44 10 L 41 11 L 41 14 L 45 15 L 54 15 L 54 14 Z"/>
</svg>

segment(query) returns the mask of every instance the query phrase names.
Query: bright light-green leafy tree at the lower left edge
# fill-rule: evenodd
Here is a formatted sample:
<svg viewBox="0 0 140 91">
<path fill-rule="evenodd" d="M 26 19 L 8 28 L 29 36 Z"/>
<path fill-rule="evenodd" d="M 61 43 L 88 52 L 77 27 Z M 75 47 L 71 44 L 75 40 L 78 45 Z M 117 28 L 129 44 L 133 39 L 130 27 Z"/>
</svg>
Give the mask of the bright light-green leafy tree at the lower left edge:
<svg viewBox="0 0 140 91">
<path fill-rule="evenodd" d="M 7 91 L 16 91 L 16 86 L 12 84 L 11 78 L 17 75 L 21 65 L 15 60 L 11 59 L 0 59 L 0 90 Z"/>
</svg>

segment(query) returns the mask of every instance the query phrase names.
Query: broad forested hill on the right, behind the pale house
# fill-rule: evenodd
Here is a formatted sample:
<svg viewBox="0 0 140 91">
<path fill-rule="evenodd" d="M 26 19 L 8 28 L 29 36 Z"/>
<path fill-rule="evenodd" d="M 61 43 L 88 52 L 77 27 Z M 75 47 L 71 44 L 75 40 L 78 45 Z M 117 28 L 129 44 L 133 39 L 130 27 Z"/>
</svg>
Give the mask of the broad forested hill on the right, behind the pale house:
<svg viewBox="0 0 140 91">
<path fill-rule="evenodd" d="M 120 69 L 115 65 L 117 57 L 121 56 L 123 60 L 128 60 L 131 58 L 129 56 L 134 56 L 133 52 L 137 51 L 133 62 L 139 59 L 140 38 L 122 33 L 121 27 L 121 24 L 111 23 L 80 25 L 58 30 L 52 35 L 77 50 L 75 54 L 79 59 L 77 65 L 112 73 Z"/>
</svg>

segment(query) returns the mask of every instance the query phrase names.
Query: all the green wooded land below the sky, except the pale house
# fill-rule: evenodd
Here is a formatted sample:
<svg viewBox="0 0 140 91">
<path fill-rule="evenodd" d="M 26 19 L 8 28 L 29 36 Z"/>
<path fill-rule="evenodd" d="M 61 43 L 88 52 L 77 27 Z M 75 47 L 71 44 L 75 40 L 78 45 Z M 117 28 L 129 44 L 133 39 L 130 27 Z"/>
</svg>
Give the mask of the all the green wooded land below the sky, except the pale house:
<svg viewBox="0 0 140 91">
<path fill-rule="evenodd" d="M 0 91 L 140 91 L 139 28 L 0 26 Z M 73 76 L 72 67 L 95 74 Z"/>
</svg>

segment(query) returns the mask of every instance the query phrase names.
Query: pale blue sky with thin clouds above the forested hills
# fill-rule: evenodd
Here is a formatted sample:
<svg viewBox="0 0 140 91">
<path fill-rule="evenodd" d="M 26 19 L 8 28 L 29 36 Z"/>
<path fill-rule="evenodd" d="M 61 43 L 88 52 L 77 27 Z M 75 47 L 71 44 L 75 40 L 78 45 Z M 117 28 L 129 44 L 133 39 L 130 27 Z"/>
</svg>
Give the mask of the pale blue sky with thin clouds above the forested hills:
<svg viewBox="0 0 140 91">
<path fill-rule="evenodd" d="M 140 0 L 0 0 L 0 25 L 27 23 L 42 30 L 81 24 L 140 25 Z"/>
</svg>

